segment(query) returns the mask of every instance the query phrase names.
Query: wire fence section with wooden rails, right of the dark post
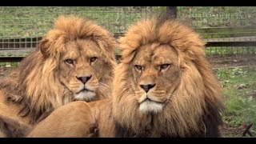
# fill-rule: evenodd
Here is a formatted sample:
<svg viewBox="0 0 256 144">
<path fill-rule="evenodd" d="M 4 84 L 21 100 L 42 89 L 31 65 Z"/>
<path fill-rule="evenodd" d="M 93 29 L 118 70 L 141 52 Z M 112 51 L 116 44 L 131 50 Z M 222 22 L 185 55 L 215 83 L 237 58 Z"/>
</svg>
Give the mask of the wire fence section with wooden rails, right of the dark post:
<svg viewBox="0 0 256 144">
<path fill-rule="evenodd" d="M 206 55 L 256 53 L 256 8 L 250 6 L 178 7 L 178 16 L 202 35 Z"/>
</svg>

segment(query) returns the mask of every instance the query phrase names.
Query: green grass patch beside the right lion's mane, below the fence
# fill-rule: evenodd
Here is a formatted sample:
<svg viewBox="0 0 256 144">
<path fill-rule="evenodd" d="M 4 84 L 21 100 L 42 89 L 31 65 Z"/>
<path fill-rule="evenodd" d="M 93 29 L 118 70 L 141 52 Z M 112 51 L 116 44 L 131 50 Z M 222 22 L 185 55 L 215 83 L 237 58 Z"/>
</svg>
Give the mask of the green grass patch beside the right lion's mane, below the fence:
<svg viewBox="0 0 256 144">
<path fill-rule="evenodd" d="M 215 74 L 223 86 L 223 121 L 233 126 L 256 124 L 256 66 L 222 68 Z"/>
</svg>

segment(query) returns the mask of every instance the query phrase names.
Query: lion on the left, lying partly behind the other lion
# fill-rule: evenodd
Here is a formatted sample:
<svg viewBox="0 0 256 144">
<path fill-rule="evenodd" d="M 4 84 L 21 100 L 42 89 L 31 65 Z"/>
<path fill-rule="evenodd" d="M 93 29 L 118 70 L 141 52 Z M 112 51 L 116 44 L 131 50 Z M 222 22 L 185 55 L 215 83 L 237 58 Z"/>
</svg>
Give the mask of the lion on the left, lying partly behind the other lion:
<svg viewBox="0 0 256 144">
<path fill-rule="evenodd" d="M 60 16 L 36 50 L 1 82 L 0 136 L 23 137 L 67 103 L 109 98 L 115 45 L 113 34 L 91 20 Z"/>
</svg>

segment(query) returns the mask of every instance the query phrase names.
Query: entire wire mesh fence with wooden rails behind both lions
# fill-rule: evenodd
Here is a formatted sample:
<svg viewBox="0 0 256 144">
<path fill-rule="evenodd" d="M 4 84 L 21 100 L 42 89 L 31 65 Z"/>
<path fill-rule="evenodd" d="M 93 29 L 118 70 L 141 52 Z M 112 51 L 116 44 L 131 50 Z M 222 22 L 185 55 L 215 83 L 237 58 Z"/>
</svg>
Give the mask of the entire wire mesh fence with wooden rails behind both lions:
<svg viewBox="0 0 256 144">
<path fill-rule="evenodd" d="M 0 7 L 0 57 L 26 55 L 62 14 L 90 18 L 122 35 L 130 24 L 166 6 Z M 207 42 L 207 55 L 255 54 L 256 9 L 252 6 L 178 6 L 177 18 L 192 26 Z M 235 44 L 235 45 L 234 45 Z"/>
</svg>

